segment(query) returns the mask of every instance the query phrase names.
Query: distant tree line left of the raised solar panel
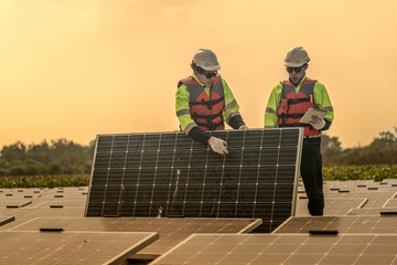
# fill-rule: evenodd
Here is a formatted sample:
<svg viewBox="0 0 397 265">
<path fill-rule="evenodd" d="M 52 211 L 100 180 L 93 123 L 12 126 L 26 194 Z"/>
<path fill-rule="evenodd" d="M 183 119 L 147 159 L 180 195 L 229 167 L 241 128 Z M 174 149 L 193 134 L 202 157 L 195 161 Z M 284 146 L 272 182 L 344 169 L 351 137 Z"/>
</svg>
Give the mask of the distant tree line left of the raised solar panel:
<svg viewBox="0 0 397 265">
<path fill-rule="evenodd" d="M 89 173 L 94 141 L 82 146 L 66 139 L 43 140 L 39 145 L 21 141 L 3 146 L 0 151 L 0 176 Z"/>
</svg>

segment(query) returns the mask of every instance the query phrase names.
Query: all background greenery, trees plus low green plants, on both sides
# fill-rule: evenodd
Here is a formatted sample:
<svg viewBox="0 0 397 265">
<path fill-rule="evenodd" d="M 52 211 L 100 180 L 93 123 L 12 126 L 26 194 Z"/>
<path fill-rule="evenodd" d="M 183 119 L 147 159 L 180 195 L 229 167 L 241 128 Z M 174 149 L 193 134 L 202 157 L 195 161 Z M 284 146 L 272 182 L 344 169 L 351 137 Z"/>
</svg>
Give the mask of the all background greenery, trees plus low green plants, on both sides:
<svg viewBox="0 0 397 265">
<path fill-rule="evenodd" d="M 364 147 L 342 149 L 337 137 L 322 137 L 324 180 L 397 178 L 397 127 Z M 0 151 L 0 188 L 78 187 L 89 184 L 94 141 L 82 146 L 66 139 L 40 145 L 20 141 Z"/>
</svg>

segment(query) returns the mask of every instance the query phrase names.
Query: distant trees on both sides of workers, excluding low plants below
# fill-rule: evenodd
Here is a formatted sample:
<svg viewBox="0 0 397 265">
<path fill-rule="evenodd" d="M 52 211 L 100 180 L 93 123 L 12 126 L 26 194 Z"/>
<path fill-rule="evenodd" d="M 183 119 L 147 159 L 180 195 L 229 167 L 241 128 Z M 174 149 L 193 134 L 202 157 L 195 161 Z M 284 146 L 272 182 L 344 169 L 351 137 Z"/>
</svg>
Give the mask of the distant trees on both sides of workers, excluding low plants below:
<svg viewBox="0 0 397 265">
<path fill-rule="evenodd" d="M 339 138 L 326 134 L 321 146 L 325 167 L 397 163 L 397 127 L 394 131 L 382 131 L 364 147 L 342 149 Z M 94 148 L 94 140 L 87 146 L 66 139 L 28 146 L 18 141 L 2 147 L 0 176 L 87 174 L 92 170 Z"/>
</svg>

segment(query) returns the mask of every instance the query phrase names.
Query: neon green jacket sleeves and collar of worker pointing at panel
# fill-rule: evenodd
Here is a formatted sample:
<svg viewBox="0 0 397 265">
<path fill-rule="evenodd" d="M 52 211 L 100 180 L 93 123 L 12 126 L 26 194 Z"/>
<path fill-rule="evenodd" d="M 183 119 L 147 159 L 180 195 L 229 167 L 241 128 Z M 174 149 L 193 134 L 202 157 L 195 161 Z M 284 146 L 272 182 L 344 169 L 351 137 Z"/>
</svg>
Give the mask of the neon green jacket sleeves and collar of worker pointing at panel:
<svg viewBox="0 0 397 265">
<path fill-rule="evenodd" d="M 192 74 L 192 77 L 195 78 L 198 82 L 198 84 L 201 84 L 204 87 L 204 91 L 210 96 L 211 88 L 205 87 L 205 85 L 198 81 L 198 78 L 194 75 L 194 73 Z M 240 115 L 238 112 L 239 106 L 224 78 L 222 78 L 222 84 L 224 87 L 224 100 L 225 100 L 223 118 L 226 123 L 228 123 L 232 117 L 236 115 Z M 186 135 L 193 127 L 197 126 L 191 117 L 189 102 L 190 102 L 189 88 L 185 84 L 182 84 L 180 85 L 180 87 L 178 87 L 175 94 L 175 112 L 181 125 L 181 129 Z"/>
</svg>

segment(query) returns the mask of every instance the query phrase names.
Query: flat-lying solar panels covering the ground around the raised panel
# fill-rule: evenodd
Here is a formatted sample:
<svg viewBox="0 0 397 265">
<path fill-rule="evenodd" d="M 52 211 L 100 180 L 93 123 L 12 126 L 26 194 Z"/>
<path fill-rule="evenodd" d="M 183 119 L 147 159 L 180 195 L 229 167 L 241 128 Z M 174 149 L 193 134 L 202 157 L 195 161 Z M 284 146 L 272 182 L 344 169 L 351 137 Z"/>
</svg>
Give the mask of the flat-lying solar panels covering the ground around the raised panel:
<svg viewBox="0 0 397 265">
<path fill-rule="evenodd" d="M 154 259 L 151 264 L 393 264 L 396 183 L 326 182 L 325 209 L 341 216 L 291 218 L 265 235 L 245 234 L 260 224 L 255 219 L 83 218 L 86 187 L 2 189 L 0 264 L 117 264 L 126 258 Z M 19 200 L 31 203 L 7 208 Z M 299 210 L 305 210 L 305 202 L 304 195 L 298 198 L 297 214 L 307 214 Z"/>
</svg>

